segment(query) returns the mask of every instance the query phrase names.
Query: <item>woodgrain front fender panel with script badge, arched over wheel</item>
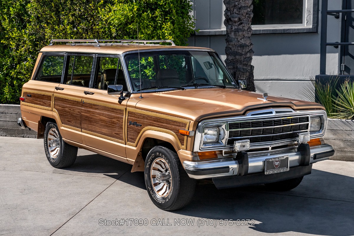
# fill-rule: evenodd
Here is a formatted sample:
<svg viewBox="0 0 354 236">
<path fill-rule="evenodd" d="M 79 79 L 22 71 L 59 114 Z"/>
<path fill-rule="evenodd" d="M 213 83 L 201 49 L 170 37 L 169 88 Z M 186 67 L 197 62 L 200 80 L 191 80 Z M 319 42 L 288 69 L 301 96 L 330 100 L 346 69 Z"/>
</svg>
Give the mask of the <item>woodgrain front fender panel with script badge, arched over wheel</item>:
<svg viewBox="0 0 354 236">
<path fill-rule="evenodd" d="M 141 126 L 129 125 L 130 121 L 137 122 L 138 124 L 141 124 Z M 185 129 L 185 123 L 145 114 L 139 114 L 131 111 L 128 112 L 127 120 L 128 142 L 135 143 L 142 129 L 147 126 L 168 129 L 177 135 L 182 145 L 184 144 L 185 136 L 179 134 L 179 129 Z"/>
</svg>

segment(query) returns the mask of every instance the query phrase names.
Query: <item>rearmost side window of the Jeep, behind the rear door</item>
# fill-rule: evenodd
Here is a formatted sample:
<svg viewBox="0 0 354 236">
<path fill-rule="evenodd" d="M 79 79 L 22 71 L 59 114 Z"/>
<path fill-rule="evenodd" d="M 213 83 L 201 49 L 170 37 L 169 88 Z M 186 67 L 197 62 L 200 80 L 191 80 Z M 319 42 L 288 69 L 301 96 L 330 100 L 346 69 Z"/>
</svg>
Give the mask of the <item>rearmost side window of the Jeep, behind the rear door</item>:
<svg viewBox="0 0 354 236">
<path fill-rule="evenodd" d="M 64 56 L 45 56 L 35 80 L 60 83 L 64 67 Z"/>
</svg>

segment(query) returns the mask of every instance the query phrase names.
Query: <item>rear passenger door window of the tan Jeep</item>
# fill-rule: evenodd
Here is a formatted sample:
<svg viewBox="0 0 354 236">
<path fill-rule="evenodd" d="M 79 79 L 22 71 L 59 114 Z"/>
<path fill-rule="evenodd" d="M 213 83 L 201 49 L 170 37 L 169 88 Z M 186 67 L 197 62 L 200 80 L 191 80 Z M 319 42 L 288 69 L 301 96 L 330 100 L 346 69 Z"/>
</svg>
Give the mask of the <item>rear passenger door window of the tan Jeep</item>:
<svg viewBox="0 0 354 236">
<path fill-rule="evenodd" d="M 89 87 L 93 56 L 68 56 L 68 73 L 64 83 Z"/>
</svg>

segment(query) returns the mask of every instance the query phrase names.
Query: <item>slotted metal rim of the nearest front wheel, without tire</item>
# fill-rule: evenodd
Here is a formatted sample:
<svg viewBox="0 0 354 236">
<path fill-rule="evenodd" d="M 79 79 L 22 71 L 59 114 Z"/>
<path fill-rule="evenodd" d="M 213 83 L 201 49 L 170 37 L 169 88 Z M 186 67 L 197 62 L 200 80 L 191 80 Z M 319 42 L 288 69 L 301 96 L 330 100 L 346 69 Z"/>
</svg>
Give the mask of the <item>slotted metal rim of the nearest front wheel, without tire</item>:
<svg viewBox="0 0 354 236">
<path fill-rule="evenodd" d="M 150 170 L 151 184 L 156 195 L 166 197 L 171 191 L 172 177 L 171 170 L 167 162 L 162 158 L 157 158 L 152 163 Z"/>
</svg>

